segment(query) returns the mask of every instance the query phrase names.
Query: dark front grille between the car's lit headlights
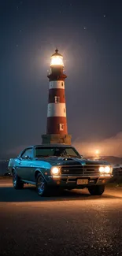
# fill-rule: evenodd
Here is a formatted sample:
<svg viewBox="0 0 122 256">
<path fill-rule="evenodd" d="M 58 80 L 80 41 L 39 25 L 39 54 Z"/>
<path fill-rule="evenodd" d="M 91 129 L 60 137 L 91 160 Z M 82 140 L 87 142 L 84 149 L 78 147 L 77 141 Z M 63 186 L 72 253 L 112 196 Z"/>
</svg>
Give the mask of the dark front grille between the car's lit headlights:
<svg viewBox="0 0 122 256">
<path fill-rule="evenodd" d="M 98 176 L 98 165 L 65 165 L 61 167 L 61 174 L 79 176 Z"/>
</svg>

